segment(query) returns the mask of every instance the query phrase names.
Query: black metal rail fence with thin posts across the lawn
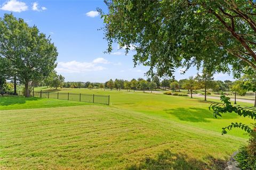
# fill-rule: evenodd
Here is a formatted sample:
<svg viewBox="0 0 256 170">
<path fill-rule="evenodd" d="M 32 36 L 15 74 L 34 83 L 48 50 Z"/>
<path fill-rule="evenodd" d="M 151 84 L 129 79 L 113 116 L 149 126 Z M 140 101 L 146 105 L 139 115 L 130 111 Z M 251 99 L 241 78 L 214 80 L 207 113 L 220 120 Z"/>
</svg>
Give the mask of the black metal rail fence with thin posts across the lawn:
<svg viewBox="0 0 256 170">
<path fill-rule="evenodd" d="M 22 92 L 19 92 L 19 95 L 24 95 Z M 109 95 L 94 95 L 94 94 L 73 94 L 70 92 L 43 92 L 41 91 L 32 91 L 31 95 L 33 97 L 39 98 L 53 98 L 61 100 L 73 100 L 73 101 L 83 101 L 88 103 L 97 103 L 109 105 Z"/>
</svg>

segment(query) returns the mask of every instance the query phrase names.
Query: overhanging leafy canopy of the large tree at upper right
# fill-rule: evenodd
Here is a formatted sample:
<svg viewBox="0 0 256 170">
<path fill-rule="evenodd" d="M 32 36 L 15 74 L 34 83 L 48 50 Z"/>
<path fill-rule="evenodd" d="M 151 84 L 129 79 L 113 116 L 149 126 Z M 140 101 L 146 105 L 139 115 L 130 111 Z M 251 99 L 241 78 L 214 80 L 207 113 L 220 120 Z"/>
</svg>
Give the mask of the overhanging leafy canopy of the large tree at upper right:
<svg viewBox="0 0 256 170">
<path fill-rule="evenodd" d="M 137 1 L 106 0 L 108 52 L 113 43 L 135 48 L 134 64 L 148 74 L 171 76 L 175 67 L 229 72 L 249 65 L 256 70 L 256 3 L 251 0 Z M 204 62 L 202 62 L 204 61 Z M 204 66 L 205 67 L 205 66 Z"/>
</svg>

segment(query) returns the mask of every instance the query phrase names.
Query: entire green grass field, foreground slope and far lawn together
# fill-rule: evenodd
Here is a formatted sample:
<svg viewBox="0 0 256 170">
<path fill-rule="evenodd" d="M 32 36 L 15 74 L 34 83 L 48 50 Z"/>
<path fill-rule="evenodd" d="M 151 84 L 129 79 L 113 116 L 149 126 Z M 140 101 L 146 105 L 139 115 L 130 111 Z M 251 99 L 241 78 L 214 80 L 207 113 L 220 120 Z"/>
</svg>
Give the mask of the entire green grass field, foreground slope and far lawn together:
<svg viewBox="0 0 256 170">
<path fill-rule="evenodd" d="M 110 106 L 0 98 L 0 169 L 222 169 L 247 136 L 221 135 L 221 128 L 253 122 L 235 114 L 215 119 L 202 99 L 59 90 L 110 95 Z"/>
</svg>

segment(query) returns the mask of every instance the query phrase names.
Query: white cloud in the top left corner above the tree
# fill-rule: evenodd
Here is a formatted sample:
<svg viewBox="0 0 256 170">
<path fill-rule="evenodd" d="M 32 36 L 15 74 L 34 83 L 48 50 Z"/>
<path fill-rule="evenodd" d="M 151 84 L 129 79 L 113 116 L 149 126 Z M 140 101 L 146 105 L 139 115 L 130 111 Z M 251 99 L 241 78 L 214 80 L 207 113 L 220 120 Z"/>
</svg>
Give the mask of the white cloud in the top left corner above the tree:
<svg viewBox="0 0 256 170">
<path fill-rule="evenodd" d="M 4 11 L 22 12 L 22 11 L 27 11 L 28 6 L 24 2 L 10 0 L 5 2 L 0 9 Z"/>
</svg>

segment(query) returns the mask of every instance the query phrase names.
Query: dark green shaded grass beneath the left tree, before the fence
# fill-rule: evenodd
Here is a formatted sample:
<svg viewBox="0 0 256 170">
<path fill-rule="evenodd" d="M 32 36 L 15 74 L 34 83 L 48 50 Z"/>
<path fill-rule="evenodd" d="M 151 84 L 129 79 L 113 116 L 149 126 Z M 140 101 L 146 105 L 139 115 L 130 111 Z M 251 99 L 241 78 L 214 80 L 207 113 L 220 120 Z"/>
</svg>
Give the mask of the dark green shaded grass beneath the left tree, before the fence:
<svg viewBox="0 0 256 170">
<path fill-rule="evenodd" d="M 41 98 L 36 97 L 23 97 L 23 96 L 12 96 L 12 97 L 1 97 L 0 98 L 0 106 L 8 106 L 14 104 L 24 104 L 26 101 L 32 100 L 41 100 Z"/>
</svg>

